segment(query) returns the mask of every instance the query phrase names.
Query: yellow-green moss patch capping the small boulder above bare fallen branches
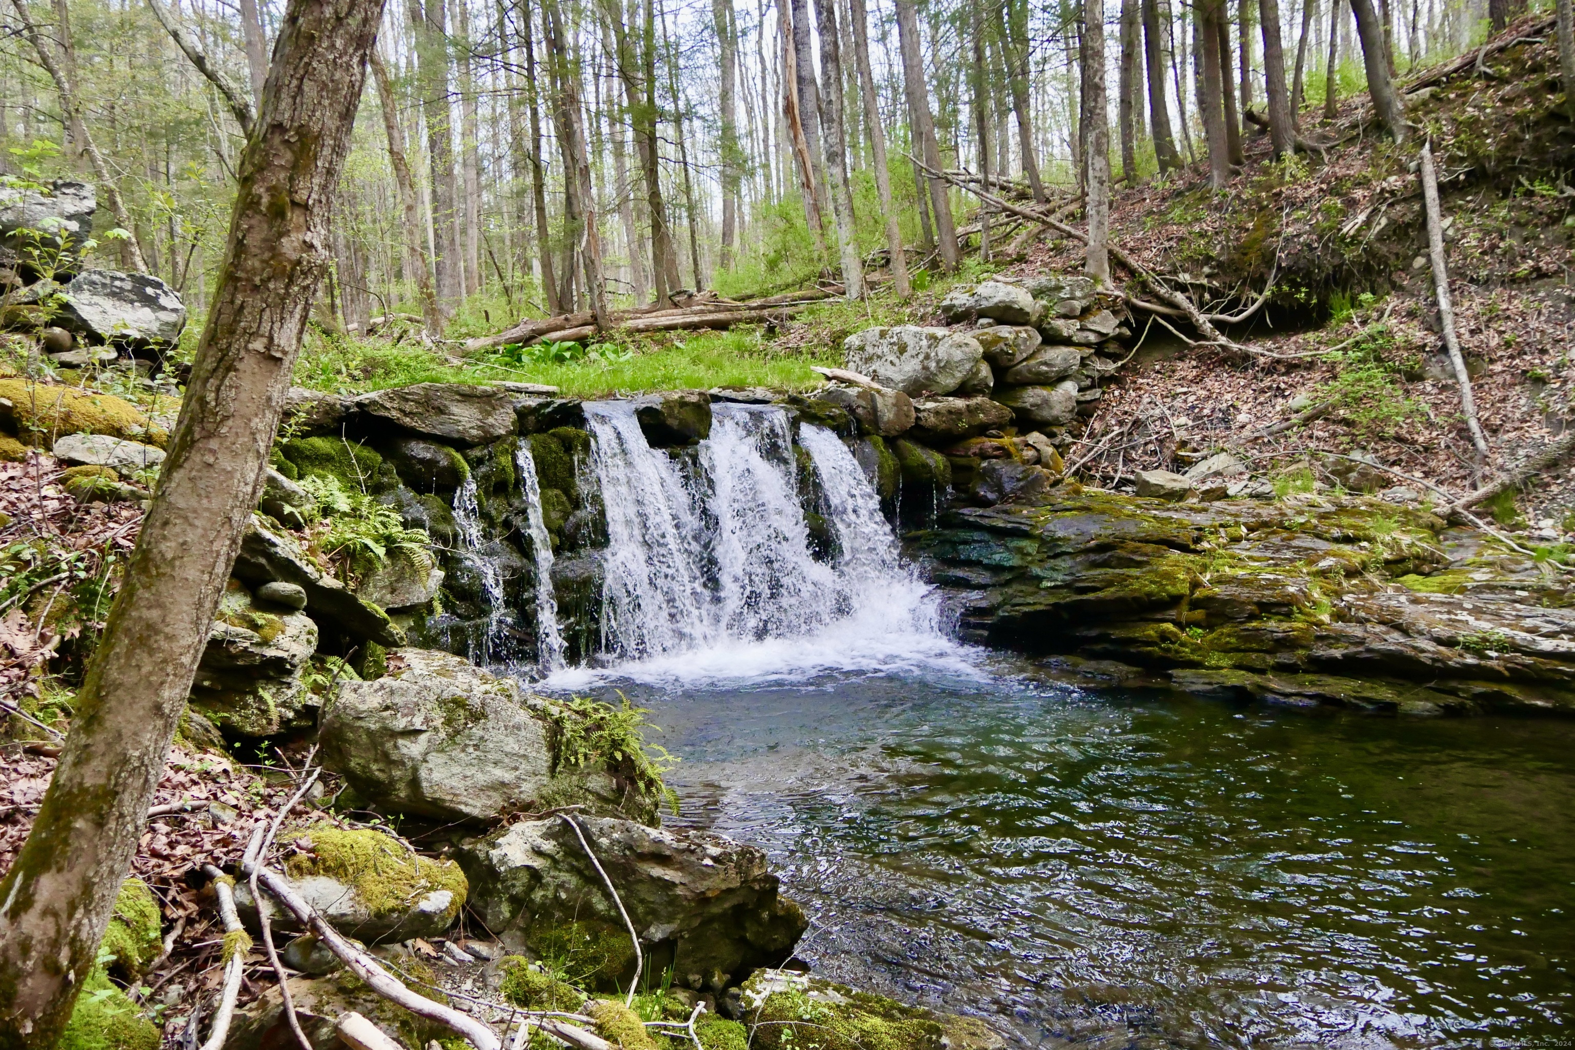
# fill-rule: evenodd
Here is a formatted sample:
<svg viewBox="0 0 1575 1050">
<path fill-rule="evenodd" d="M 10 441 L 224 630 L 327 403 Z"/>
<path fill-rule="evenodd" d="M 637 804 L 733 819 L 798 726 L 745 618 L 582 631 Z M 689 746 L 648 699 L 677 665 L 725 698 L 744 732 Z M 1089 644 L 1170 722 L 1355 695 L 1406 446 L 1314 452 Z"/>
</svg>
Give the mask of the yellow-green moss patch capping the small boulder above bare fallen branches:
<svg viewBox="0 0 1575 1050">
<path fill-rule="evenodd" d="M 331 823 L 307 828 L 312 853 L 296 853 L 285 867 L 295 878 L 328 875 L 353 886 L 373 916 L 408 911 L 422 896 L 449 889 L 447 919 L 465 905 L 469 883 L 454 861 L 433 861 L 381 831 L 348 831 Z"/>
</svg>

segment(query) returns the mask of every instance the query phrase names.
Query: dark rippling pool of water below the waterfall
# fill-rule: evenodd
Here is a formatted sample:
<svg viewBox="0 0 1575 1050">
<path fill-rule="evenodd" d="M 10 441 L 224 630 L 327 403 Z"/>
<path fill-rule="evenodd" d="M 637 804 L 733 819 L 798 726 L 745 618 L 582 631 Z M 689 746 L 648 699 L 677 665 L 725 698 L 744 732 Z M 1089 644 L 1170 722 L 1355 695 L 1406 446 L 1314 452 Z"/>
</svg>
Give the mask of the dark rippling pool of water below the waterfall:
<svg viewBox="0 0 1575 1050">
<path fill-rule="evenodd" d="M 972 666 L 972 671 L 969 669 Z M 1028 1045 L 1575 1045 L 1575 723 L 1090 697 L 983 656 L 636 675 L 816 971 Z"/>
</svg>

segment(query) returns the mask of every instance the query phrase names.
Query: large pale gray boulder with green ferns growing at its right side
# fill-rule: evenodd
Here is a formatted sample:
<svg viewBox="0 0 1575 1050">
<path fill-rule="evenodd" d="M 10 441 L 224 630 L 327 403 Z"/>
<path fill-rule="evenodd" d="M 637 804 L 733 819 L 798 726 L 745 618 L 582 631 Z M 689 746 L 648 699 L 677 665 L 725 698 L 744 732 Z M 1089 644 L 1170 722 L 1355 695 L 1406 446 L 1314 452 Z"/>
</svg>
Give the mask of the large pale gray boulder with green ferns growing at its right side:
<svg viewBox="0 0 1575 1050">
<path fill-rule="evenodd" d="M 323 767 L 380 808 L 436 820 L 491 820 L 562 804 L 545 701 L 528 701 L 452 653 L 400 649 L 389 674 L 346 682 L 323 710 Z M 608 778 L 610 779 L 610 778 Z M 610 793 L 611 782 L 605 786 Z"/>
</svg>

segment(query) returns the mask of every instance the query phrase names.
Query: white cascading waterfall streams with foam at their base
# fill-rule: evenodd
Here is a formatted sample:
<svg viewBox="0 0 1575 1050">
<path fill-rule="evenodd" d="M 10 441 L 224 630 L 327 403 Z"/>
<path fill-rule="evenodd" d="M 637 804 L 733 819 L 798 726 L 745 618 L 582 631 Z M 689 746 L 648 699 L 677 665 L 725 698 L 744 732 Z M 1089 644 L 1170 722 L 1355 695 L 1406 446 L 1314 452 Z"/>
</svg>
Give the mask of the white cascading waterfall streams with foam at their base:
<svg viewBox="0 0 1575 1050">
<path fill-rule="evenodd" d="M 586 405 L 591 469 L 606 507 L 606 669 L 572 667 L 554 688 L 805 680 L 824 674 L 976 675 L 940 630 L 931 589 L 899 560 L 880 501 L 841 439 L 799 441 L 825 494 L 835 562 L 811 553 L 788 414 L 713 406 L 699 471 L 650 449 L 627 401 Z"/>
</svg>

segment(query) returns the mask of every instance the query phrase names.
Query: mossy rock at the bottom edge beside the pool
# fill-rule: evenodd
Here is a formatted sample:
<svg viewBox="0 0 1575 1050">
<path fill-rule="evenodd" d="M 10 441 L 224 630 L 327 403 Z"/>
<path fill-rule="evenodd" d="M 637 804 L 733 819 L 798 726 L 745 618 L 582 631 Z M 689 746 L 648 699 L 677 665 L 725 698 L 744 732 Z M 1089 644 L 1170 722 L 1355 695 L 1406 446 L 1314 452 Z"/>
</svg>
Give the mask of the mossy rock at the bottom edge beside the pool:
<svg viewBox="0 0 1575 1050">
<path fill-rule="evenodd" d="M 984 1022 L 833 984 L 789 970 L 759 970 L 743 984 L 750 1045 L 762 1050 L 999 1050 Z"/>
</svg>

